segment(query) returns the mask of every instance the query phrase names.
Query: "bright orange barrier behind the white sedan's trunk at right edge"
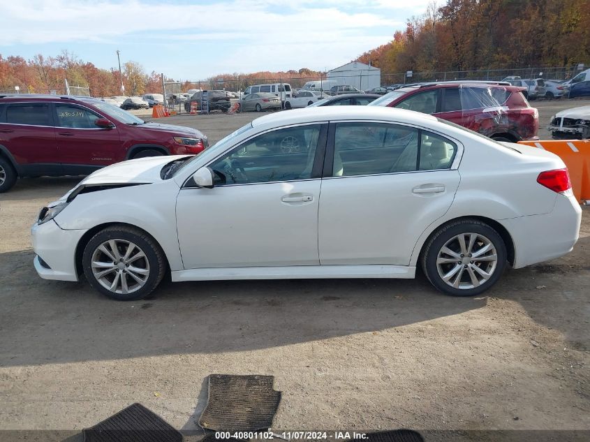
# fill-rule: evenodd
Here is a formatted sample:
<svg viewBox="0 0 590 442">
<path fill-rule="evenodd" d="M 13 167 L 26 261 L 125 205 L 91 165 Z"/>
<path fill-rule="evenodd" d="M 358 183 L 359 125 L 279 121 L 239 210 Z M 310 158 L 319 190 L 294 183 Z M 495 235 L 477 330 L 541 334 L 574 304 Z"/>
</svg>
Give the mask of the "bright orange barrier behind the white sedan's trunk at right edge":
<svg viewBox="0 0 590 442">
<path fill-rule="evenodd" d="M 519 141 L 559 156 L 568 166 L 572 190 L 578 201 L 590 200 L 590 140 Z"/>
</svg>

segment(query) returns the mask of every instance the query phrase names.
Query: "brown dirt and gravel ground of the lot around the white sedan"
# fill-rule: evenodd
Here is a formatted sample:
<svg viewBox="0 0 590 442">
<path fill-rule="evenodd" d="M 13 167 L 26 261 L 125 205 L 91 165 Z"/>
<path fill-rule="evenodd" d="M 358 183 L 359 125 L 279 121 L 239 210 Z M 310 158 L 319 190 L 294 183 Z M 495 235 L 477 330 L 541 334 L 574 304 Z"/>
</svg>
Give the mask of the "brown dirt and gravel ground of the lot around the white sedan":
<svg viewBox="0 0 590 442">
<path fill-rule="evenodd" d="M 541 127 L 564 107 L 544 103 Z M 214 142 L 256 116 L 165 122 Z M 483 297 L 420 276 L 164 283 L 123 303 L 32 266 L 38 209 L 76 182 L 0 196 L 0 429 L 82 429 L 133 402 L 197 429 L 213 373 L 274 375 L 278 429 L 590 429 L 588 209 L 572 253 Z"/>
</svg>

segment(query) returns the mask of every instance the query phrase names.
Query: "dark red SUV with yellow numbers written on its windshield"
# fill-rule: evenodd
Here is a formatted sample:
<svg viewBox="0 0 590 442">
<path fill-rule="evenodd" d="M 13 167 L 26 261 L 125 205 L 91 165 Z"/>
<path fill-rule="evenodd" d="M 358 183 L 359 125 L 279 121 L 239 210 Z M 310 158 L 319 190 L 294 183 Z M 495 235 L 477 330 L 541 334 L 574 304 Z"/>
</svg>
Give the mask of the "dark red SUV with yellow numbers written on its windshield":
<svg viewBox="0 0 590 442">
<path fill-rule="evenodd" d="M 146 123 L 96 98 L 0 96 L 0 193 L 17 177 L 87 175 L 119 161 L 206 147 L 196 129 Z"/>
</svg>

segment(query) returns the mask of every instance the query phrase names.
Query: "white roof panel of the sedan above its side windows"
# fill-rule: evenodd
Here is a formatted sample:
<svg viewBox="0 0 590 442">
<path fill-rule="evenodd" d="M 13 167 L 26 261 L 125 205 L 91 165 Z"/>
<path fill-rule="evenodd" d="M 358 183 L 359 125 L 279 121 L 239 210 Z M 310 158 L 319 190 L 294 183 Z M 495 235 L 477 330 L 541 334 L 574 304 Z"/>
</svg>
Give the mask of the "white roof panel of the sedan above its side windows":
<svg viewBox="0 0 590 442">
<path fill-rule="evenodd" d="M 252 121 L 252 127 L 263 126 L 287 126 L 288 124 L 301 124 L 314 121 L 332 121 L 346 119 L 375 119 L 391 120 L 399 123 L 419 124 L 425 121 L 432 124 L 437 121 L 432 115 L 394 108 L 382 108 L 380 106 L 320 106 L 318 108 L 293 109 L 287 112 L 276 112 L 265 115 Z"/>
</svg>

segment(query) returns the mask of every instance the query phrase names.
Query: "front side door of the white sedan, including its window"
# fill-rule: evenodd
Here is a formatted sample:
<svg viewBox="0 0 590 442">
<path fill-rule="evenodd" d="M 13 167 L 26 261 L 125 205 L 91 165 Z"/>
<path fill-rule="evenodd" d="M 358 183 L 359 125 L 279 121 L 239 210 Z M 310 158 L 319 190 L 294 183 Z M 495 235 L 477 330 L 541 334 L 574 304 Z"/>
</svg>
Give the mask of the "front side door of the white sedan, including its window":
<svg viewBox="0 0 590 442">
<path fill-rule="evenodd" d="M 319 265 L 326 133 L 327 124 L 308 124 L 257 135 L 209 164 L 213 189 L 183 187 L 184 268 Z"/>
</svg>

